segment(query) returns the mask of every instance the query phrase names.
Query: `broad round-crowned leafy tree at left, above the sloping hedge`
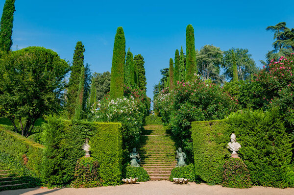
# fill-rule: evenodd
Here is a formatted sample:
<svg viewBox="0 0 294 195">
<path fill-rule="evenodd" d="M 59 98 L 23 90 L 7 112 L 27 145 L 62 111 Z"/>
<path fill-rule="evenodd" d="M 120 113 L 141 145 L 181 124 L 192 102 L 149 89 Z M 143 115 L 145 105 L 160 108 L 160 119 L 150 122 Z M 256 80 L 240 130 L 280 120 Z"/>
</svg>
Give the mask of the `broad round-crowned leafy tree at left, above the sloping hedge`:
<svg viewBox="0 0 294 195">
<path fill-rule="evenodd" d="M 60 109 L 63 79 L 69 68 L 56 52 L 41 47 L 28 47 L 2 56 L 0 107 L 16 132 L 28 137 L 38 118 Z"/>
</svg>

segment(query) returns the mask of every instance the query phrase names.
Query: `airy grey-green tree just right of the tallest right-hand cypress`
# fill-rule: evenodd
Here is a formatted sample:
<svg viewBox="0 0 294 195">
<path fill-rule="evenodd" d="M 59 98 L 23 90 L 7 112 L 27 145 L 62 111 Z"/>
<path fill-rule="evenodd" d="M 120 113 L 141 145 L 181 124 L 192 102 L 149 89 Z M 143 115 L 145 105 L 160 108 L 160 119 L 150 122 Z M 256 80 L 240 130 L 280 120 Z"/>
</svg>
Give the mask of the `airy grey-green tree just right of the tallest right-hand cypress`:
<svg viewBox="0 0 294 195">
<path fill-rule="evenodd" d="M 212 80 L 220 80 L 220 66 L 222 51 L 213 45 L 206 45 L 196 55 L 199 73 L 202 77 Z"/>
</svg>

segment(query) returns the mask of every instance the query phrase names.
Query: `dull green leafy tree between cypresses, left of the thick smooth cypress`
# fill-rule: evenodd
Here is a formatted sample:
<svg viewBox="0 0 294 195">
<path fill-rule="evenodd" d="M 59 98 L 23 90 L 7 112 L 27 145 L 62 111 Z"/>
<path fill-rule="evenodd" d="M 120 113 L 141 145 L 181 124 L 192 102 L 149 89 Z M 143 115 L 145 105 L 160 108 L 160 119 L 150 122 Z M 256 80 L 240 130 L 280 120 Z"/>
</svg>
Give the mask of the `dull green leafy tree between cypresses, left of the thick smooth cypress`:
<svg viewBox="0 0 294 195">
<path fill-rule="evenodd" d="M 95 87 L 95 101 L 101 100 L 110 91 L 110 73 L 94 73 L 92 85 Z"/>
</svg>

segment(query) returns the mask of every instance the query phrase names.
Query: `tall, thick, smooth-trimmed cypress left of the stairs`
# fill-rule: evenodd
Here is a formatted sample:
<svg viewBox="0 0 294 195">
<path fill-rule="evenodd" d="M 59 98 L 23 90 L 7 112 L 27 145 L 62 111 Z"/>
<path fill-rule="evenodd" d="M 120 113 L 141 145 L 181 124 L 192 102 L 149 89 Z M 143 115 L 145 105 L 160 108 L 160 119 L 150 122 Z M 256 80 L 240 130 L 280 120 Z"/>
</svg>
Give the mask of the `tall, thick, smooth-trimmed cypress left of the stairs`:
<svg viewBox="0 0 294 195">
<path fill-rule="evenodd" d="M 123 27 L 120 26 L 117 29 L 113 55 L 112 55 L 112 67 L 111 67 L 111 79 L 110 79 L 110 96 L 111 98 L 123 97 L 123 67 L 125 61 L 125 38 Z"/>
</svg>

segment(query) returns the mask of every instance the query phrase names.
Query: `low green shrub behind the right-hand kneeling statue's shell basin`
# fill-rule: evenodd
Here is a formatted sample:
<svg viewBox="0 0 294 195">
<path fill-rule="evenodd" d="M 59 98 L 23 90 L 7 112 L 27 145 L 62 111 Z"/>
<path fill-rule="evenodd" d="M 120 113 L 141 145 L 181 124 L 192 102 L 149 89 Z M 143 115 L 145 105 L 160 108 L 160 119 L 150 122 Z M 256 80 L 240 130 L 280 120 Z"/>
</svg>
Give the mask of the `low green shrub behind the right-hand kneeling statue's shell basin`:
<svg viewBox="0 0 294 195">
<path fill-rule="evenodd" d="M 172 178 L 185 178 L 190 179 L 190 182 L 199 182 L 198 176 L 196 176 L 195 168 L 193 164 L 184 166 L 184 167 L 176 167 L 172 169 L 172 173 L 170 175 L 170 180 Z"/>
</svg>

